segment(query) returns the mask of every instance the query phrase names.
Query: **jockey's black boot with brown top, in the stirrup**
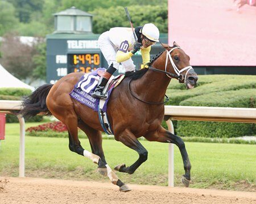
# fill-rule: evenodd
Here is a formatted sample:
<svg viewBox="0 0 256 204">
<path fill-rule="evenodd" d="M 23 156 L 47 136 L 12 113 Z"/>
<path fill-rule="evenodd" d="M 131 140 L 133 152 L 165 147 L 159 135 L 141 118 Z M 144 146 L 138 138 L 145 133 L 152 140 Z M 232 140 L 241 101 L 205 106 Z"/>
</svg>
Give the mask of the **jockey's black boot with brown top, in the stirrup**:
<svg viewBox="0 0 256 204">
<path fill-rule="evenodd" d="M 105 71 L 105 73 L 101 76 L 100 81 L 98 82 L 98 85 L 95 89 L 95 91 L 92 94 L 92 97 L 97 97 L 99 99 L 106 99 L 108 97 L 108 94 L 104 94 L 103 90 L 106 86 L 106 84 L 108 83 L 110 77 L 114 74 L 114 72 L 117 69 L 115 69 L 115 67 L 113 67 L 113 63 L 112 65 L 110 65 L 110 67 Z"/>
</svg>

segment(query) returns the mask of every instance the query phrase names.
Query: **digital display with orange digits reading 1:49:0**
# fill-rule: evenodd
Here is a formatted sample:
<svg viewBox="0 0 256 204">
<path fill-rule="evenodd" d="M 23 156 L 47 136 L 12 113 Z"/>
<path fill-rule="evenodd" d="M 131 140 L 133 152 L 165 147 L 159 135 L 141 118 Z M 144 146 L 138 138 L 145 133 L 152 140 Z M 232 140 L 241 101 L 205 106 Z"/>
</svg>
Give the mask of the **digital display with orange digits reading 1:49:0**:
<svg viewBox="0 0 256 204">
<path fill-rule="evenodd" d="M 72 72 L 90 73 L 101 66 L 100 54 L 68 54 L 68 70 Z"/>
</svg>

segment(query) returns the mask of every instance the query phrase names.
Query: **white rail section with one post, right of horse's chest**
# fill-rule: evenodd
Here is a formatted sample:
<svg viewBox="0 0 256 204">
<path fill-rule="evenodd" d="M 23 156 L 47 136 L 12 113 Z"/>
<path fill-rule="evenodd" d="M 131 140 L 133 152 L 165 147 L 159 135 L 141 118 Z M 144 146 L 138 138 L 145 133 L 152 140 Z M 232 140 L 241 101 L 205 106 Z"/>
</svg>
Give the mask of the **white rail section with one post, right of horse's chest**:
<svg viewBox="0 0 256 204">
<path fill-rule="evenodd" d="M 171 120 L 256 123 L 256 108 L 188 107 L 166 105 L 164 115 L 168 130 L 174 133 Z M 174 145 L 169 144 L 168 186 L 174 186 Z"/>
</svg>

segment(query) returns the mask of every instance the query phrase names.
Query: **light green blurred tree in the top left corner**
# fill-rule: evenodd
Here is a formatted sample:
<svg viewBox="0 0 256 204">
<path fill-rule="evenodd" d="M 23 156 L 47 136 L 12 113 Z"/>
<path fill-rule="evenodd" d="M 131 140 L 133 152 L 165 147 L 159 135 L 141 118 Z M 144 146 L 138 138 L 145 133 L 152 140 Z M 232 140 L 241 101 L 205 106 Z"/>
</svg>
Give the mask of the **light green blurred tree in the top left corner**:
<svg viewBox="0 0 256 204">
<path fill-rule="evenodd" d="M 0 36 L 13 30 L 17 24 L 14 6 L 9 2 L 0 1 Z"/>
</svg>

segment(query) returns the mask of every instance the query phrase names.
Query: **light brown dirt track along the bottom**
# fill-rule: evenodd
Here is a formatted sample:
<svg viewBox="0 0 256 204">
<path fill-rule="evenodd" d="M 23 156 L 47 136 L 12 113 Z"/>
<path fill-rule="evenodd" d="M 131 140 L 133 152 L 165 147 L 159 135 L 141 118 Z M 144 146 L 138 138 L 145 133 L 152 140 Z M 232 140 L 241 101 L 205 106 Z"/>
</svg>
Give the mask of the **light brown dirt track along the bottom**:
<svg viewBox="0 0 256 204">
<path fill-rule="evenodd" d="M 0 177 L 0 180 L 5 178 Z M 0 203 L 256 203 L 256 194 L 227 190 L 129 185 L 121 193 L 109 183 L 55 179 L 8 178 Z M 1 187 L 1 186 L 0 186 Z"/>
</svg>

